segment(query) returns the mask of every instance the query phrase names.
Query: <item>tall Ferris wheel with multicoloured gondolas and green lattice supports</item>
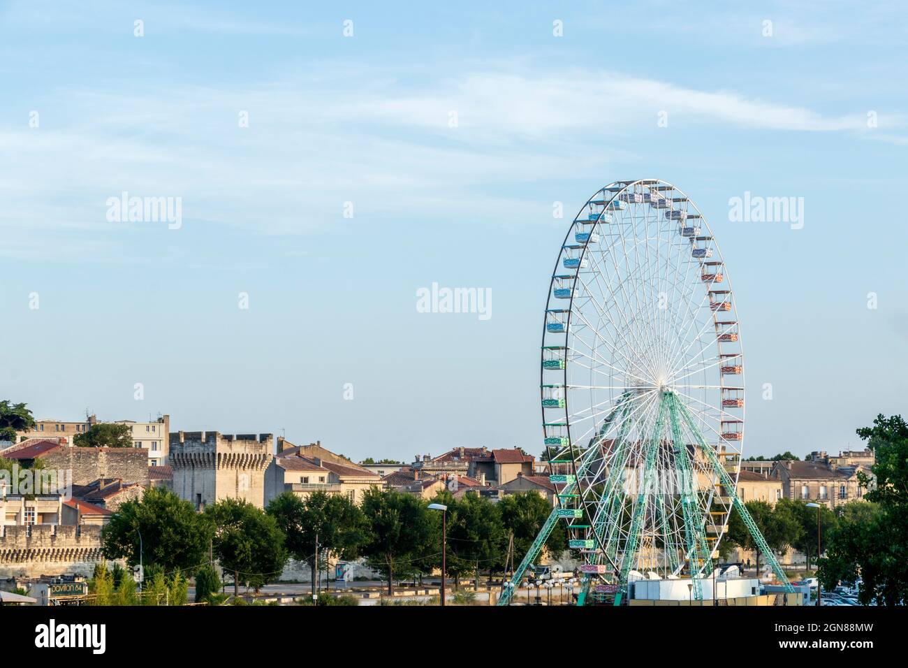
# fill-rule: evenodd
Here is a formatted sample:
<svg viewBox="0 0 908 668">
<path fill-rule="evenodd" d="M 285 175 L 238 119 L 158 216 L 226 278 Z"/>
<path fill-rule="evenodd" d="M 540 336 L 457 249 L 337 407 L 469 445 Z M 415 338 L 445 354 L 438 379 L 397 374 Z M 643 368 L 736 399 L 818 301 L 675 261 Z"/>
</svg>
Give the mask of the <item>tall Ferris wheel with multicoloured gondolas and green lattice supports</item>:
<svg viewBox="0 0 908 668">
<path fill-rule="evenodd" d="M 794 591 L 737 495 L 735 295 L 706 218 L 675 185 L 616 181 L 580 208 L 551 274 L 539 391 L 556 503 L 499 605 L 558 522 L 580 562 L 578 604 L 621 604 L 638 573 L 689 580 L 702 601 L 733 512 Z"/>
</svg>

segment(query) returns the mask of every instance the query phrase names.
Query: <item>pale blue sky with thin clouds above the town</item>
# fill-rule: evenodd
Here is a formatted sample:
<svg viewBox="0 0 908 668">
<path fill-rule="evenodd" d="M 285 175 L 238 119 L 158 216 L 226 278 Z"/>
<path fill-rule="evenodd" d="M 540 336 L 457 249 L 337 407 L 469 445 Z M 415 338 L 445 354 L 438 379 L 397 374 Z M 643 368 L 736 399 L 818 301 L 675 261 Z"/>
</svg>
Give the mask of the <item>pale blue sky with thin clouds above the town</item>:
<svg viewBox="0 0 908 668">
<path fill-rule="evenodd" d="M 538 453 L 569 216 L 657 177 L 734 279 L 745 454 L 855 446 L 905 412 L 906 40 L 896 3 L 3 3 L 0 394 L 356 458 Z M 182 226 L 108 222 L 123 191 Z M 803 229 L 729 221 L 745 192 L 803 197 Z M 418 313 L 433 282 L 492 317 Z"/>
</svg>

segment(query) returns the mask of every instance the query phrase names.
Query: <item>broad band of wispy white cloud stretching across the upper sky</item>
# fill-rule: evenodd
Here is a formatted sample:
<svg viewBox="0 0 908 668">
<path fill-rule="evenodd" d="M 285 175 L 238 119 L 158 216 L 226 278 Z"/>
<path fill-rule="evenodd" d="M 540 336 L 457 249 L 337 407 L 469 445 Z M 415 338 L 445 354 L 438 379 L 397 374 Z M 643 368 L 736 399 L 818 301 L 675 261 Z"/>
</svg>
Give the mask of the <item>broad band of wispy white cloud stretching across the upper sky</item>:
<svg viewBox="0 0 908 668">
<path fill-rule="evenodd" d="M 336 223 L 346 201 L 388 218 L 425 210 L 531 219 L 543 215 L 540 204 L 509 189 L 602 170 L 622 146 L 636 151 L 622 138 L 651 130 L 663 110 L 675 125 L 866 134 L 859 113 L 823 115 L 614 73 L 477 72 L 419 87 L 373 74 L 183 86 L 163 97 L 137 86 L 58 91 L 45 105 L 66 100 L 63 125 L 0 133 L 0 146 L 17 156 L 0 165 L 9 203 L 0 221 L 18 230 L 19 244 L 39 225 L 104 234 L 104 200 L 122 191 L 182 196 L 190 223 L 266 234 Z M 248 128 L 239 126 L 241 111 Z M 612 146 L 611 155 L 590 155 L 591 139 Z"/>
</svg>

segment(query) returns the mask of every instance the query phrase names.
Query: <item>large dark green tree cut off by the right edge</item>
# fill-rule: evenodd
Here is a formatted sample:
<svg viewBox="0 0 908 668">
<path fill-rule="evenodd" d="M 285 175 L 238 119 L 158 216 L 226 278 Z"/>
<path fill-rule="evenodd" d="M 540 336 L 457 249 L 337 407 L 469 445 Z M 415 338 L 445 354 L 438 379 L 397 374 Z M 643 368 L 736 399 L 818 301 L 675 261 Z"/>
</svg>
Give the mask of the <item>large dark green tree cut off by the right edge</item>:
<svg viewBox="0 0 908 668">
<path fill-rule="evenodd" d="M 847 511 L 830 533 L 817 575 L 824 589 L 860 576 L 858 598 L 883 605 L 908 601 L 908 424 L 879 414 L 857 435 L 873 450 L 873 476 L 858 474 L 873 509 Z"/>
</svg>

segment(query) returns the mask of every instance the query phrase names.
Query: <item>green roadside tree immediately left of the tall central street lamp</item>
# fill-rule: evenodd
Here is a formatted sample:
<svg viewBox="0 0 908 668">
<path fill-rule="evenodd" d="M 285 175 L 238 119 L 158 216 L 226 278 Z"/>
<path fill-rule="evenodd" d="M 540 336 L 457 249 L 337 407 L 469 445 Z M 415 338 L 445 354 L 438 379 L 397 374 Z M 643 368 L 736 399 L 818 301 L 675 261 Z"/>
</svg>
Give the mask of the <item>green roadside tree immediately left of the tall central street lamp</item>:
<svg viewBox="0 0 908 668">
<path fill-rule="evenodd" d="M 426 505 L 411 494 L 378 487 L 363 496 L 361 508 L 370 531 L 362 553 L 388 578 L 389 594 L 394 593 L 395 575 L 415 573 L 413 563 L 429 544 L 432 521 Z"/>
</svg>

